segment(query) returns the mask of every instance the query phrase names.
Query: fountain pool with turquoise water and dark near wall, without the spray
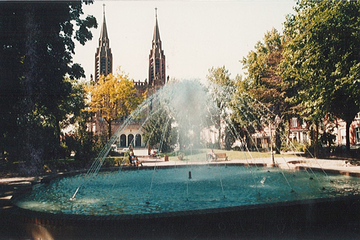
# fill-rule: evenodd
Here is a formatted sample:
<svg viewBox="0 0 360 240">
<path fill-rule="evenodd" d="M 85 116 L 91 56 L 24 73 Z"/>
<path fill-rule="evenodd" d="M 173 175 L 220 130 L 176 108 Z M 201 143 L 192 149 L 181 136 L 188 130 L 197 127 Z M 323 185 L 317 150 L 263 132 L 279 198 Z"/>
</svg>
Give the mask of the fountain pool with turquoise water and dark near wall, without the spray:
<svg viewBox="0 0 360 240">
<path fill-rule="evenodd" d="M 157 171 L 125 167 L 85 181 L 84 174 L 49 177 L 43 179 L 49 183 L 15 197 L 17 206 L 4 212 L 3 224 L 31 239 L 56 240 L 354 239 L 360 234 L 360 178 L 314 171 L 310 180 L 303 170 L 282 171 L 288 183 L 279 168 L 251 165 L 250 171 L 235 163 L 158 166 Z"/>
</svg>

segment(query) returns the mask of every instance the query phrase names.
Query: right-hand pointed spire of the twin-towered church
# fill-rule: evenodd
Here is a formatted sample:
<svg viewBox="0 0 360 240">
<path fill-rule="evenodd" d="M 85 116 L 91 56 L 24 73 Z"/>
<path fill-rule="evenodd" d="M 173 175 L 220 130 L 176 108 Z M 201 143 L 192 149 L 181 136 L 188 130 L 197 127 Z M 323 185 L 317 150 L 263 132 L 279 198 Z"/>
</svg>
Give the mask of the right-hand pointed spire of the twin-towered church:
<svg viewBox="0 0 360 240">
<path fill-rule="evenodd" d="M 160 33 L 157 25 L 157 8 L 155 7 L 155 27 L 152 37 L 152 48 L 149 54 L 148 85 L 156 86 L 165 84 L 165 55 L 161 49 Z"/>
</svg>

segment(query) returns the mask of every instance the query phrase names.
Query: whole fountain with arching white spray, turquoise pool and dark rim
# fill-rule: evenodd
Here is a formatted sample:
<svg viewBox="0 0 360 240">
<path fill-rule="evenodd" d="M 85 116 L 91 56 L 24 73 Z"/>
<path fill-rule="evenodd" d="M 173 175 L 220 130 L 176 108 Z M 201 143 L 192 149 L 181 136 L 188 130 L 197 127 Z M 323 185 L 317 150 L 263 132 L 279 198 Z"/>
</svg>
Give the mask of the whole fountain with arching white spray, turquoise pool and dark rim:
<svg viewBox="0 0 360 240">
<path fill-rule="evenodd" d="M 215 122 L 217 109 L 197 80 L 169 82 L 117 132 L 139 116 L 143 127 L 159 111 L 173 122 L 181 148 L 191 153 L 206 148 L 200 133 Z M 320 172 L 278 168 L 280 157 L 269 169 L 270 164 L 255 163 L 245 146 L 250 157 L 241 164 L 209 162 L 203 154 L 189 161 L 185 156 L 182 165 L 103 169 L 117 132 L 86 172 L 44 178 L 31 193 L 16 197 L 15 219 L 53 239 L 287 239 L 319 235 L 320 224 L 333 231 L 358 219 L 357 177 L 327 174 L 321 166 Z"/>
</svg>

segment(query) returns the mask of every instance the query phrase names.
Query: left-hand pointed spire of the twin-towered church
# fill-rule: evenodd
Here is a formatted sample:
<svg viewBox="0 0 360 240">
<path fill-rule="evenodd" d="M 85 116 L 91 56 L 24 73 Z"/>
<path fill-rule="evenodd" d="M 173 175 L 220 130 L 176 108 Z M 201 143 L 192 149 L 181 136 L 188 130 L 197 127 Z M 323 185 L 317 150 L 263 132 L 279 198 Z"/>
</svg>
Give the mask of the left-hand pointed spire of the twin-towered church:
<svg viewBox="0 0 360 240">
<path fill-rule="evenodd" d="M 100 75 L 107 75 L 112 72 L 112 54 L 107 37 L 106 21 L 105 21 L 105 4 L 103 5 L 103 20 L 99 38 L 99 46 L 95 53 L 95 82 L 98 81 Z"/>
</svg>

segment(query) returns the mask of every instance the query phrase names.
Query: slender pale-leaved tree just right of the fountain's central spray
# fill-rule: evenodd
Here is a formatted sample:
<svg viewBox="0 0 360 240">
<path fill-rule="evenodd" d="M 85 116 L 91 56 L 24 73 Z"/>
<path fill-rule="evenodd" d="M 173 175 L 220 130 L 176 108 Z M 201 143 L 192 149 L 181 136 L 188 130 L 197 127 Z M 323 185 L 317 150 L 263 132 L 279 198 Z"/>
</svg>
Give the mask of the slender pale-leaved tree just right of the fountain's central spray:
<svg viewBox="0 0 360 240">
<path fill-rule="evenodd" d="M 222 147 L 221 142 L 223 134 L 221 133 L 221 119 L 226 115 L 226 107 L 228 106 L 235 89 L 235 82 L 230 78 L 230 73 L 228 73 L 225 66 L 217 68 L 211 67 L 208 71 L 209 74 L 206 75 L 206 78 L 210 83 L 208 91 L 215 104 L 215 113 L 212 122 L 218 130 L 218 142 L 220 147 Z"/>
</svg>

